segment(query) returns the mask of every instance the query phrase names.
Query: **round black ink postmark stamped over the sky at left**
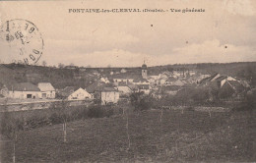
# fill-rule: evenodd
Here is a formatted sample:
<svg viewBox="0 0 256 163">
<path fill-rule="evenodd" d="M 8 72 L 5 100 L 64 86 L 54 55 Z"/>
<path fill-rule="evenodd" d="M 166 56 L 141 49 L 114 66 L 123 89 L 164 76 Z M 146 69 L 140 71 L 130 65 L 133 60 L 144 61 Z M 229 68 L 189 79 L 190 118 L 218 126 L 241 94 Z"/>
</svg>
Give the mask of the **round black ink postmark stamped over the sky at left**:
<svg viewBox="0 0 256 163">
<path fill-rule="evenodd" d="M 27 20 L 7 21 L 0 27 L 1 58 L 7 63 L 35 64 L 42 55 L 43 39 Z"/>
</svg>

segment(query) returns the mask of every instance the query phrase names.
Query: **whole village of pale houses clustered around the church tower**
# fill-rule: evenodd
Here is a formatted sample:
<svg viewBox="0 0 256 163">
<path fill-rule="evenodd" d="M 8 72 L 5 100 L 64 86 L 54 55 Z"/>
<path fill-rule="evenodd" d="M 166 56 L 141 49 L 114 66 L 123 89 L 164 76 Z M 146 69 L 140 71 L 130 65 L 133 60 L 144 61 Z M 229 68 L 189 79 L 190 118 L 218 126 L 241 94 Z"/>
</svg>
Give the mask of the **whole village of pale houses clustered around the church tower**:
<svg viewBox="0 0 256 163">
<path fill-rule="evenodd" d="M 67 69 L 76 69 L 76 67 L 69 66 Z M 87 87 L 67 85 L 55 88 L 47 81 L 37 84 L 32 82 L 1 83 L 0 100 L 9 99 L 11 103 L 87 100 L 97 101 L 97 103 L 99 101 L 101 105 L 112 105 L 120 101 L 129 101 L 129 96 L 134 92 L 143 92 L 145 95 L 160 99 L 168 95 L 174 96 L 177 92 L 187 88 L 207 88 L 210 91 L 218 91 L 222 100 L 242 100 L 250 90 L 248 81 L 220 73 L 201 74 L 193 70 L 154 73 L 148 70 L 145 63 L 138 73 L 129 72 L 125 68 L 107 75 L 101 75 L 97 71 L 91 74 L 84 70 L 81 72 L 75 76 L 76 80 L 88 76 L 93 79 Z M 212 92 L 207 100 L 214 100 Z"/>
</svg>

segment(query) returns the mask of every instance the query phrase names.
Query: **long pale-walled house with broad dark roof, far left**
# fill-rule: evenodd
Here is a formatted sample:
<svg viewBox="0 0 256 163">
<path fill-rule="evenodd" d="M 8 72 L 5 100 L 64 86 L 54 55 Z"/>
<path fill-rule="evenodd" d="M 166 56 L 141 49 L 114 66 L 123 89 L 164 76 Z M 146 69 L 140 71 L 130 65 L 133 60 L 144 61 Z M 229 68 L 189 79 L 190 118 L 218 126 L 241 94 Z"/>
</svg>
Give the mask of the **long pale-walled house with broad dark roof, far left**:
<svg viewBox="0 0 256 163">
<path fill-rule="evenodd" d="M 32 82 L 15 83 L 8 87 L 10 98 L 40 98 L 40 89 Z"/>
</svg>

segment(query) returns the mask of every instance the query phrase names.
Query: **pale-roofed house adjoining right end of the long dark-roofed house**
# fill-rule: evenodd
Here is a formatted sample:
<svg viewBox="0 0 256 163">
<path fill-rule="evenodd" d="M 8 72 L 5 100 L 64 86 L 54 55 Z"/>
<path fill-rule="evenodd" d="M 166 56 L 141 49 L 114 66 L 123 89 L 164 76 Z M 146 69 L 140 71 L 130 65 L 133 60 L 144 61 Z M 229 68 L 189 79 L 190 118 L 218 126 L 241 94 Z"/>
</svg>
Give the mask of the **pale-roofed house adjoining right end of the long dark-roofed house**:
<svg viewBox="0 0 256 163">
<path fill-rule="evenodd" d="M 55 98 L 56 91 L 50 82 L 39 82 L 37 86 L 41 91 L 40 98 Z"/>
</svg>

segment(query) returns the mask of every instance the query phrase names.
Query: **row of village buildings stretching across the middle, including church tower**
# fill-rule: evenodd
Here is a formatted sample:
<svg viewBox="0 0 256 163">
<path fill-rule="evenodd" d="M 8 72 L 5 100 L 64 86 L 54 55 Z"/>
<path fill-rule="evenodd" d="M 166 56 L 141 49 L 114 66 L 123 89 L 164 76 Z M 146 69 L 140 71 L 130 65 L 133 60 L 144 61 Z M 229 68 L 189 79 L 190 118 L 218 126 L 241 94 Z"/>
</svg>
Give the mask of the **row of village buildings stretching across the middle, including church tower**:
<svg viewBox="0 0 256 163">
<path fill-rule="evenodd" d="M 215 75 L 202 75 L 193 71 L 186 73 L 162 72 L 160 74 L 148 73 L 146 64 L 141 67 L 141 72 L 129 73 L 122 71 L 119 74 L 110 74 L 101 77 L 86 88 L 67 86 L 55 89 L 50 82 L 39 82 L 37 85 L 31 82 L 2 85 L 2 94 L 9 98 L 65 98 L 73 99 L 97 99 L 101 104 L 117 103 L 120 98 L 126 98 L 132 92 L 143 91 L 158 97 L 162 94 L 174 95 L 185 87 L 209 86 L 232 94 L 239 94 L 244 87 L 249 86 L 245 81 L 237 81 L 232 77 Z"/>
</svg>

